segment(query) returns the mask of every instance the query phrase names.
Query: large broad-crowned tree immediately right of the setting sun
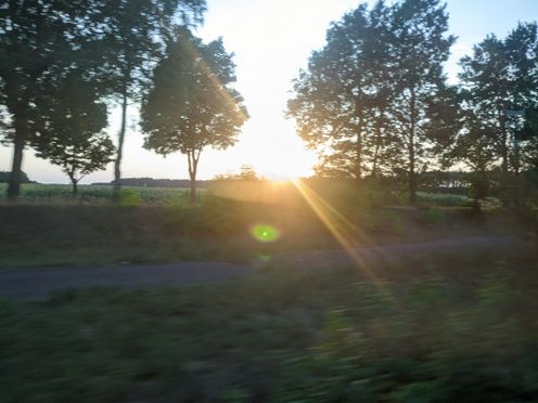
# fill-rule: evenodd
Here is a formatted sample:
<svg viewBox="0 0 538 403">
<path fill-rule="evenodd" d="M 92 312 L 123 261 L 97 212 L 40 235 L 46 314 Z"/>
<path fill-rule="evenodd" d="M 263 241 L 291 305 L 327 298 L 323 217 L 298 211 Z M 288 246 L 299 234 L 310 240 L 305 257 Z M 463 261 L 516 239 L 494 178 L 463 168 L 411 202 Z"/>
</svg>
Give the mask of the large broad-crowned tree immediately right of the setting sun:
<svg viewBox="0 0 538 403">
<path fill-rule="evenodd" d="M 454 38 L 439 0 L 367 5 L 333 24 L 289 102 L 299 134 L 340 176 L 404 170 L 415 202 L 417 173 L 446 141 L 457 102 L 443 64 Z M 447 103 L 447 101 L 449 101 Z"/>
</svg>

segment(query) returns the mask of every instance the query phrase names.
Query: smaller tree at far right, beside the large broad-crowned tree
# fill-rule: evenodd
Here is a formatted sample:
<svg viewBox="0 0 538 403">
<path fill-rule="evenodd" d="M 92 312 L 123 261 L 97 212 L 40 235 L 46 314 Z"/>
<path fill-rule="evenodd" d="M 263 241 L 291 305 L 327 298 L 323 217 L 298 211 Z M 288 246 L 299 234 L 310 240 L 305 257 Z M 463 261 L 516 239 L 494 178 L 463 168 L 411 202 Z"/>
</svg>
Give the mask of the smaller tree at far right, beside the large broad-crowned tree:
<svg viewBox="0 0 538 403">
<path fill-rule="evenodd" d="M 510 174 L 518 181 L 522 169 L 522 150 L 528 144 L 518 139 L 524 127 L 522 117 L 509 114 L 508 110 L 531 110 L 538 106 L 538 40 L 537 25 L 518 24 L 505 39 L 489 35 L 476 44 L 471 56 L 465 56 L 460 64 L 463 72 L 460 75 L 461 86 L 474 100 L 466 107 L 471 119 L 479 121 L 479 135 L 483 142 L 494 146 L 495 159 L 499 161 L 502 173 L 503 204 L 510 204 L 510 193 L 513 193 L 515 204 L 518 204 L 517 185 L 515 192 L 510 188 Z"/>
</svg>

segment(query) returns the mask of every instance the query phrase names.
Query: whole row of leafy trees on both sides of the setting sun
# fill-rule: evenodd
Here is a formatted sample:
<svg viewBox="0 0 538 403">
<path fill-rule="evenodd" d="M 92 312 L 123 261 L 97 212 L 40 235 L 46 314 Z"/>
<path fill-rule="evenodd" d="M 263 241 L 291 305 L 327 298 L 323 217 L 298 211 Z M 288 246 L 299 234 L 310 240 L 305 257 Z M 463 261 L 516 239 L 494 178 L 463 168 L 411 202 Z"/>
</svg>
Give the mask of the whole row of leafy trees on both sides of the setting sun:
<svg viewBox="0 0 538 403">
<path fill-rule="evenodd" d="M 13 146 L 8 197 L 18 196 L 24 150 L 57 165 L 73 192 L 114 161 L 114 193 L 129 107 L 140 110 L 144 146 L 181 152 L 191 197 L 204 148 L 226 148 L 248 118 L 222 39 L 192 34 L 205 0 L 0 1 L 0 134 Z M 396 176 L 417 199 L 421 174 L 471 171 L 476 199 L 491 182 L 505 205 L 521 198 L 521 174 L 538 167 L 536 23 L 487 36 L 444 65 L 456 37 L 440 0 L 379 0 L 332 24 L 293 82 L 287 115 L 317 151 L 326 177 Z M 105 133 L 111 105 L 117 139 Z"/>
</svg>

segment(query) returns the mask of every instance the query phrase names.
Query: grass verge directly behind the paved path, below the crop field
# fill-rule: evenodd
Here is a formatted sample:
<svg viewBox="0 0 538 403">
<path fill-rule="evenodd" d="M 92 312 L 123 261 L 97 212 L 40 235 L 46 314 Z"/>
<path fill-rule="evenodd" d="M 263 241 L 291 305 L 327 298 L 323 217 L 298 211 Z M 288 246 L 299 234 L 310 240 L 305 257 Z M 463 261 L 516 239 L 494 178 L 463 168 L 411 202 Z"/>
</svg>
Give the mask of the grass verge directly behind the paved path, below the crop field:
<svg viewBox="0 0 538 403">
<path fill-rule="evenodd" d="M 340 211 L 346 211 L 345 206 Z M 427 242 L 450 236 L 517 232 L 510 217 L 487 213 L 470 222 L 465 209 L 348 208 L 351 243 Z M 205 195 L 198 205 L 120 207 L 113 204 L 0 206 L 0 270 L 188 260 L 249 262 L 259 255 L 338 248 L 303 204 L 262 204 Z M 260 243 L 256 225 L 271 225 L 277 240 Z"/>
</svg>

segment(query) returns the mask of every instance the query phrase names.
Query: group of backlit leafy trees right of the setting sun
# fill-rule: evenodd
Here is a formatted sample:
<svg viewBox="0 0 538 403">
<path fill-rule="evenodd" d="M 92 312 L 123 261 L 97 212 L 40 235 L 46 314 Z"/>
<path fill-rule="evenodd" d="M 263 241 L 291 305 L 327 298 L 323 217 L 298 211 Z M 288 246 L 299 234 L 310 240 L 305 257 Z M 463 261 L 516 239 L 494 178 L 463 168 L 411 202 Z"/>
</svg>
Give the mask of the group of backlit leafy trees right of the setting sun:
<svg viewBox="0 0 538 403">
<path fill-rule="evenodd" d="M 518 204 L 520 173 L 538 168 L 537 24 L 488 35 L 450 84 L 448 18 L 439 0 L 380 0 L 332 24 L 287 104 L 319 174 L 398 174 L 414 203 L 421 172 L 465 167 L 476 198 L 498 172 L 504 205 Z"/>
</svg>

